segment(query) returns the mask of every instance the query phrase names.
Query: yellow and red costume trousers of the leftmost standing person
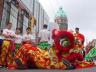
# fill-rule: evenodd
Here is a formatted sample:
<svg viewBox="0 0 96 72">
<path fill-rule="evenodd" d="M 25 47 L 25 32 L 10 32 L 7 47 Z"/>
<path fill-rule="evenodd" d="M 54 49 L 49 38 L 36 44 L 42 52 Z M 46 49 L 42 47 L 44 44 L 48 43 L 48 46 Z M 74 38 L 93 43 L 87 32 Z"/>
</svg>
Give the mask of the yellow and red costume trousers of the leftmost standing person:
<svg viewBox="0 0 96 72">
<path fill-rule="evenodd" d="M 4 40 L 0 55 L 0 65 L 8 66 L 13 63 L 13 43 L 10 40 Z"/>
</svg>

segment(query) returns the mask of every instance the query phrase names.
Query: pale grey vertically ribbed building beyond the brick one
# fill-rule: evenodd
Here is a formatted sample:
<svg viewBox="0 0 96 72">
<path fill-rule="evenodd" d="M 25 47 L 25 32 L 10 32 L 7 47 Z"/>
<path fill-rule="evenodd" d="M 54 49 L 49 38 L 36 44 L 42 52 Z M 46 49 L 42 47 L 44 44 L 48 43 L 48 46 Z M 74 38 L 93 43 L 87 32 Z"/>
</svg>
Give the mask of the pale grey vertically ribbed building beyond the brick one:
<svg viewBox="0 0 96 72">
<path fill-rule="evenodd" d="M 36 26 L 33 28 L 36 32 L 42 29 L 43 24 L 49 22 L 49 17 L 38 0 L 22 0 L 30 9 L 32 16 L 36 19 Z"/>
</svg>

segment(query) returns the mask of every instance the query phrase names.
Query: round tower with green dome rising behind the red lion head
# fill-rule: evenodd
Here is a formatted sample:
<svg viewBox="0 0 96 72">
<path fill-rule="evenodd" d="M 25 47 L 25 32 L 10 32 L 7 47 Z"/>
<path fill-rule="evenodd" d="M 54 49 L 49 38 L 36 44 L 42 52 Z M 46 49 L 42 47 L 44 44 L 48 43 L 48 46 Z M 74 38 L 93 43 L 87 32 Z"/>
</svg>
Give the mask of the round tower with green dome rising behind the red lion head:
<svg viewBox="0 0 96 72">
<path fill-rule="evenodd" d="M 55 15 L 55 22 L 59 25 L 60 29 L 68 29 L 68 19 L 62 7 L 59 8 Z"/>
</svg>

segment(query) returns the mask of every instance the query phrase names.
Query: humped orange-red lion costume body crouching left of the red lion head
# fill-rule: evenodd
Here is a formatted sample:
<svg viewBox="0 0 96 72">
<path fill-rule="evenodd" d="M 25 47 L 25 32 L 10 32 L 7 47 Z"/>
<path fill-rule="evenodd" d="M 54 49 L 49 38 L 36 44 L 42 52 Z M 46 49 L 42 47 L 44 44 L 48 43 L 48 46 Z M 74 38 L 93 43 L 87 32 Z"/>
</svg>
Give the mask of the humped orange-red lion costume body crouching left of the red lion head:
<svg viewBox="0 0 96 72">
<path fill-rule="evenodd" d="M 31 66 L 36 66 L 38 68 L 46 68 L 46 65 L 49 65 L 50 59 L 45 56 L 45 52 L 43 52 L 37 48 L 32 46 L 31 44 L 24 44 L 16 54 L 15 59 L 19 59 L 21 63 L 28 68 L 27 62 L 30 61 Z M 45 57 L 44 57 L 45 56 Z M 46 60 L 45 60 L 46 59 Z M 48 64 L 46 64 L 48 61 Z"/>
</svg>

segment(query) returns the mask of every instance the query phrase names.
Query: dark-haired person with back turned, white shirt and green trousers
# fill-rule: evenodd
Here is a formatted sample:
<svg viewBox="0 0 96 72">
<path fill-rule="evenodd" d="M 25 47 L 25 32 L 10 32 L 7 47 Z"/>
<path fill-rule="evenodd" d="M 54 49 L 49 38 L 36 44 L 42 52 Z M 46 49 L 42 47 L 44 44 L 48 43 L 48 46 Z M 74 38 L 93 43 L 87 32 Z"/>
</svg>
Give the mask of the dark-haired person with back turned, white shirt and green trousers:
<svg viewBox="0 0 96 72">
<path fill-rule="evenodd" d="M 49 40 L 50 40 L 50 32 L 47 29 L 47 25 L 43 25 L 43 29 L 39 32 L 39 46 L 41 49 L 50 48 Z"/>
</svg>

